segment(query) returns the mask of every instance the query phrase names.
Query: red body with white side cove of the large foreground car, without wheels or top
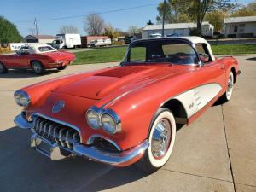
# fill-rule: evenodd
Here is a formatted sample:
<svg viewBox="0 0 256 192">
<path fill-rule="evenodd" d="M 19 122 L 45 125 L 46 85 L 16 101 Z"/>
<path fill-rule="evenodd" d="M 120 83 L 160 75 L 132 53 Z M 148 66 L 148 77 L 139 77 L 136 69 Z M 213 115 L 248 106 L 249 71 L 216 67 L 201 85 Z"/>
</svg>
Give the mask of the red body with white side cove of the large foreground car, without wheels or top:
<svg viewBox="0 0 256 192">
<path fill-rule="evenodd" d="M 154 40 L 148 41 L 154 43 Z M 141 147 L 148 140 L 152 119 L 159 108 L 173 107 L 177 124 L 189 125 L 224 95 L 230 73 L 234 74 L 236 82 L 239 68 L 233 57 L 214 59 L 202 66 L 170 65 L 157 61 L 149 64 L 130 63 L 50 79 L 22 89 L 31 99 L 25 108 L 26 122 L 23 124 L 30 123 L 32 114 L 39 115 L 78 129 L 80 143 L 84 146 L 90 146 L 91 137 L 102 137 L 122 152 L 120 156 L 123 157 L 125 152 Z M 190 93 L 191 90 L 193 93 Z M 60 101 L 65 102 L 65 107 L 62 106 L 59 113 L 53 113 L 53 107 Z M 92 129 L 85 119 L 86 111 L 91 106 L 110 109 L 118 114 L 121 131 L 109 134 L 102 129 Z M 15 122 L 22 127 L 20 119 Z M 134 158 L 120 160 L 119 163 L 97 159 L 93 155 L 87 157 L 114 166 L 128 166 L 142 157 L 143 149 Z"/>
</svg>

